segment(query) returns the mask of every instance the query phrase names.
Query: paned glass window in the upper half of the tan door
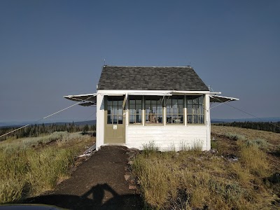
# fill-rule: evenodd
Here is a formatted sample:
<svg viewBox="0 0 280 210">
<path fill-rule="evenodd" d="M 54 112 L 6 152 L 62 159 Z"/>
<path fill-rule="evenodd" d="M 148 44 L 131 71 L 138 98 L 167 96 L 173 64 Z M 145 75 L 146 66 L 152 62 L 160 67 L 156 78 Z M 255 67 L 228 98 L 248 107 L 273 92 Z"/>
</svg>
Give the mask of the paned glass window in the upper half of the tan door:
<svg viewBox="0 0 280 210">
<path fill-rule="evenodd" d="M 107 124 L 123 124 L 123 97 L 108 97 Z"/>
</svg>

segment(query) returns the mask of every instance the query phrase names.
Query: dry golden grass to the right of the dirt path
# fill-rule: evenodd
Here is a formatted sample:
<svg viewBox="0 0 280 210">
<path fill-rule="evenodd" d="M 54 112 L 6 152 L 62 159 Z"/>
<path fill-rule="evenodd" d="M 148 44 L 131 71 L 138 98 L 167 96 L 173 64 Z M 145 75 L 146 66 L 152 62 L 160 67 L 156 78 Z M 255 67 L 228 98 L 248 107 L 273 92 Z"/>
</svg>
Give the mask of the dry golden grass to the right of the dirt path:
<svg viewBox="0 0 280 210">
<path fill-rule="evenodd" d="M 137 156 L 133 172 L 147 209 L 277 209 L 277 193 L 263 181 L 275 173 L 267 153 L 274 141 L 221 128 L 219 135 L 228 140 L 217 139 L 218 154 L 160 153 L 150 145 Z M 231 151 L 237 161 L 221 155 L 228 142 L 237 148 Z"/>
</svg>

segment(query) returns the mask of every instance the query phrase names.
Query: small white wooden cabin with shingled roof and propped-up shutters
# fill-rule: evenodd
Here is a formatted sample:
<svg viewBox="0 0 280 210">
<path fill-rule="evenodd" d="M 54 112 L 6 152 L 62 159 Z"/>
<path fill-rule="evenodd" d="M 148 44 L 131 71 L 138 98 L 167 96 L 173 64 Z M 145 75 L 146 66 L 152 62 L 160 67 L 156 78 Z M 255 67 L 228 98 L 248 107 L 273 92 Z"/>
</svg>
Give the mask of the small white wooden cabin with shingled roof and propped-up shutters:
<svg viewBox="0 0 280 210">
<path fill-rule="evenodd" d="M 97 150 L 154 144 L 161 151 L 208 151 L 210 103 L 236 100 L 217 94 L 191 66 L 103 66 L 96 93 L 65 98 L 97 106 Z"/>
</svg>

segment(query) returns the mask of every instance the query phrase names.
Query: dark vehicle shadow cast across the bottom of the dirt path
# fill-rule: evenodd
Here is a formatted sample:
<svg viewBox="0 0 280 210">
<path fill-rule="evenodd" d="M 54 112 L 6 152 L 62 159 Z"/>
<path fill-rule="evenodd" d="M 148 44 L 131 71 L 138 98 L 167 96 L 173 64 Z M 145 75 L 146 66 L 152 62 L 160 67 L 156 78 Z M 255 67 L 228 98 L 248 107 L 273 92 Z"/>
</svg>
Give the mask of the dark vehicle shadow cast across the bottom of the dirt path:
<svg viewBox="0 0 280 210">
<path fill-rule="evenodd" d="M 110 200 L 103 202 L 105 192 L 113 195 Z M 118 195 L 108 184 L 97 184 L 82 196 L 78 195 L 41 195 L 29 197 L 25 204 L 48 204 L 64 209 L 143 209 L 140 195 Z"/>
</svg>

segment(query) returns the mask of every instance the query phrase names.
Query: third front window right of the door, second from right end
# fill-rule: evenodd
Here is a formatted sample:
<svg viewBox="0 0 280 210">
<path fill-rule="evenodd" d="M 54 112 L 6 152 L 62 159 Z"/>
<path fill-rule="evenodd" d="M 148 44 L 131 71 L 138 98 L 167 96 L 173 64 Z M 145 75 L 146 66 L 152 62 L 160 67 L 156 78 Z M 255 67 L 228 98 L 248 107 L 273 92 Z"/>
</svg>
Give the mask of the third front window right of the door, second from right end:
<svg viewBox="0 0 280 210">
<path fill-rule="evenodd" d="M 183 124 L 183 96 L 172 96 L 166 99 L 167 125 Z"/>
</svg>

